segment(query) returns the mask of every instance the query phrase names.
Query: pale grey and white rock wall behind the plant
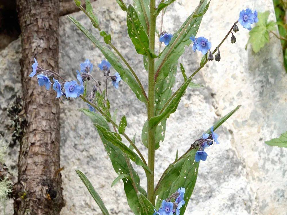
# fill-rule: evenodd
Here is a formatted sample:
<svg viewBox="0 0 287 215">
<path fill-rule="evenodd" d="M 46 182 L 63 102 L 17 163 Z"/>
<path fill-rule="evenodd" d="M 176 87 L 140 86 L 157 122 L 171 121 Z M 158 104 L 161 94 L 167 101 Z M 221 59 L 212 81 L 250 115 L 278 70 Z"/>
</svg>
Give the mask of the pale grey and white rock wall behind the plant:
<svg viewBox="0 0 287 215">
<path fill-rule="evenodd" d="M 131 1 L 129 1 L 131 2 Z M 174 32 L 193 11 L 198 1 L 178 0 L 167 10 L 164 28 Z M 135 69 L 147 89 L 147 72 L 142 56 L 137 56 L 127 35 L 125 13 L 112 0 L 93 3 L 98 11 L 102 29 L 109 32 L 112 41 Z M 238 19 L 241 9 L 270 10 L 275 19 L 272 0 L 212 1 L 204 15 L 197 36 L 205 36 L 214 47 Z M 82 12 L 71 14 L 95 35 L 90 21 Z M 158 23 L 159 26 L 160 23 Z M 167 121 L 166 137 L 156 151 L 156 181 L 170 162 L 176 150 L 187 150 L 198 135 L 209 128 L 236 105 L 241 108 L 218 130 L 220 144 L 208 148 L 207 161 L 200 163 L 197 183 L 187 206 L 186 214 L 286 214 L 286 149 L 267 146 L 264 141 L 286 131 L 286 73 L 283 67 L 279 40 L 271 35 L 270 43 L 258 54 L 244 50 L 248 31 L 239 26 L 237 42 L 230 38 L 220 48 L 221 61 L 209 62 L 193 79 L 203 88 L 188 89 L 178 110 Z M 100 36 L 97 36 L 100 38 Z M 156 45 L 158 47 L 158 44 Z M 16 94 L 21 95 L 20 40 L 15 40 L 0 52 L 0 130 L 9 141 L 6 109 Z M 31 56 L 31 62 L 32 62 Z M 104 81 L 97 64 L 103 58 L 99 50 L 63 16 L 60 19 L 60 73 L 75 79 L 79 63 L 89 58 L 94 64 L 93 74 Z M 179 62 L 187 74 L 199 65 L 201 53 L 187 48 Z M 112 69 L 111 71 L 115 71 Z M 175 89 L 183 78 L 178 71 Z M 119 108 L 118 118 L 127 116 L 129 136 L 137 132 L 136 145 L 144 156 L 147 150 L 141 143 L 141 128 L 146 120 L 143 103 L 138 101 L 125 83 L 118 90 L 109 86 L 112 109 Z M 43 89 L 43 93 L 45 90 Z M 99 192 L 110 214 L 132 214 L 127 205 L 122 182 L 113 188 L 117 177 L 106 155 L 101 140 L 88 118 L 78 107 L 86 107 L 80 99 L 61 102 L 61 172 L 66 206 L 62 215 L 101 214 L 98 206 L 77 177 L 75 169 L 83 171 Z M 18 145 L 9 148 L 8 165 L 17 172 Z M 146 187 L 141 168 L 135 167 Z M 8 206 L 8 213 L 12 205 Z"/>
</svg>

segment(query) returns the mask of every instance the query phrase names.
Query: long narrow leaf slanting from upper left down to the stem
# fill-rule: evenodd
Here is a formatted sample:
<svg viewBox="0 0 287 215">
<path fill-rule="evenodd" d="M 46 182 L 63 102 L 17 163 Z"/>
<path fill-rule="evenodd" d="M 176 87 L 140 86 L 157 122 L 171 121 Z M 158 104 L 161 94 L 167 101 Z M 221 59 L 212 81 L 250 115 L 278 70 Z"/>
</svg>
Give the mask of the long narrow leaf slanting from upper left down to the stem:
<svg viewBox="0 0 287 215">
<path fill-rule="evenodd" d="M 105 56 L 105 58 L 110 62 L 110 64 L 113 66 L 113 68 L 120 74 L 122 80 L 129 85 L 131 90 L 135 93 L 136 97 L 142 101 L 147 102 L 146 98 L 144 97 L 141 88 L 139 87 L 139 84 L 133 77 L 133 74 L 131 71 L 123 67 L 121 62 L 119 61 L 119 58 L 106 46 L 103 46 L 100 44 L 100 41 L 97 40 L 82 24 L 80 24 L 76 19 L 74 19 L 71 16 L 68 16 L 69 19 L 81 30 L 91 41 L 96 45 L 98 49 L 102 52 L 102 54 Z"/>
</svg>

